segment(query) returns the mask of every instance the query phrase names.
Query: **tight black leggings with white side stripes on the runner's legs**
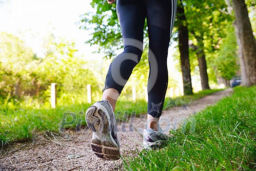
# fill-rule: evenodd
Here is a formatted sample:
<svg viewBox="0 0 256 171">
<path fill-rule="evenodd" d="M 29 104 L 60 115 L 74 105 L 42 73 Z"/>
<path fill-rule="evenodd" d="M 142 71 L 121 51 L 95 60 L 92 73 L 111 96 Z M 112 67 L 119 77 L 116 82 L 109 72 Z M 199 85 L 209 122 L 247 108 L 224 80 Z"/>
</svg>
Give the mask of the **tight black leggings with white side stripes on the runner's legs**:
<svg viewBox="0 0 256 171">
<path fill-rule="evenodd" d="M 143 50 L 147 19 L 149 35 L 148 114 L 160 117 L 168 84 L 167 54 L 177 0 L 117 0 L 124 51 L 109 66 L 104 89 L 121 93 Z"/>
</svg>

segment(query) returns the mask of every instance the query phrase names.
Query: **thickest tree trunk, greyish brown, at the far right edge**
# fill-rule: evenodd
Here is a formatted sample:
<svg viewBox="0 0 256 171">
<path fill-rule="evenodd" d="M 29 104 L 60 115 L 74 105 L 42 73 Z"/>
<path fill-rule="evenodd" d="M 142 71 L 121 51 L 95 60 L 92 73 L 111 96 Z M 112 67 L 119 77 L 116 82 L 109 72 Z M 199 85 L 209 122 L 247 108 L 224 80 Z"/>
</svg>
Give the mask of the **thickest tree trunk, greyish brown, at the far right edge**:
<svg viewBox="0 0 256 171">
<path fill-rule="evenodd" d="M 248 17 L 248 10 L 244 0 L 233 0 L 236 21 L 237 43 L 241 66 L 241 85 L 256 85 L 256 40 Z"/>
</svg>

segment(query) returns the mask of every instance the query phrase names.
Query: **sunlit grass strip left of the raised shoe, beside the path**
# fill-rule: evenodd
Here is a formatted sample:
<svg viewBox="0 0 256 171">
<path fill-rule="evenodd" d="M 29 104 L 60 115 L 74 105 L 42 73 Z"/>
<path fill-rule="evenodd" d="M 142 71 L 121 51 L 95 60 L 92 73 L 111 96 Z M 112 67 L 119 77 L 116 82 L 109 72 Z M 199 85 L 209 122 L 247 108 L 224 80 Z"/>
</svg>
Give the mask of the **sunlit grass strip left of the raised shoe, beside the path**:
<svg viewBox="0 0 256 171">
<path fill-rule="evenodd" d="M 68 127 L 76 127 L 79 118 L 84 118 L 80 111 L 90 104 L 73 105 L 72 107 L 57 107 L 56 109 L 0 109 L 0 142 L 22 142 L 29 140 L 38 132 L 59 132 L 61 123 L 66 122 Z M 65 112 L 73 112 L 77 118 L 65 117 Z M 64 119 L 64 120 L 63 120 Z M 75 120 L 73 124 L 72 120 Z M 81 120 L 81 125 L 85 121 Z M 65 128 L 65 126 L 63 126 Z"/>
</svg>

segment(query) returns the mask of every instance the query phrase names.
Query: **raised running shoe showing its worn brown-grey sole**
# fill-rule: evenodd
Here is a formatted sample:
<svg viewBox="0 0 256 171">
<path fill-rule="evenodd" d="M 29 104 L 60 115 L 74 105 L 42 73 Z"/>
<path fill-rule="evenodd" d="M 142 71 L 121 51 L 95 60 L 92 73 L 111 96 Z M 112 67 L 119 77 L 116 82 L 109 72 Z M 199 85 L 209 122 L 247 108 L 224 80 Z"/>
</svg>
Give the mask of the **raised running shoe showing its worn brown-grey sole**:
<svg viewBox="0 0 256 171">
<path fill-rule="evenodd" d="M 116 116 L 107 100 L 96 102 L 86 110 L 85 120 L 93 131 L 91 141 L 94 153 L 104 160 L 120 158 L 119 141 L 115 132 Z"/>
</svg>

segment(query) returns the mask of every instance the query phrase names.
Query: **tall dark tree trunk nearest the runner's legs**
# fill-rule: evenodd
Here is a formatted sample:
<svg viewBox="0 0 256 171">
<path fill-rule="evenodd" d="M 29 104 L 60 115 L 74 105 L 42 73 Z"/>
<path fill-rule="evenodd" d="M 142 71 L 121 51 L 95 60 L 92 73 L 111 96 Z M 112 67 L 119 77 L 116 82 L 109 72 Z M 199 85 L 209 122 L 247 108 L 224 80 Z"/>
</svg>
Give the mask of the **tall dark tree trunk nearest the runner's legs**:
<svg viewBox="0 0 256 171">
<path fill-rule="evenodd" d="M 188 45 L 188 26 L 185 16 L 184 7 L 182 1 L 179 0 L 177 5 L 177 19 L 178 19 L 178 46 L 180 52 L 180 64 L 183 80 L 183 92 L 184 95 L 193 94 L 192 82 L 191 82 L 191 70 L 189 64 L 189 45 Z"/>
</svg>

